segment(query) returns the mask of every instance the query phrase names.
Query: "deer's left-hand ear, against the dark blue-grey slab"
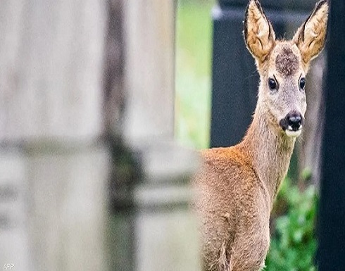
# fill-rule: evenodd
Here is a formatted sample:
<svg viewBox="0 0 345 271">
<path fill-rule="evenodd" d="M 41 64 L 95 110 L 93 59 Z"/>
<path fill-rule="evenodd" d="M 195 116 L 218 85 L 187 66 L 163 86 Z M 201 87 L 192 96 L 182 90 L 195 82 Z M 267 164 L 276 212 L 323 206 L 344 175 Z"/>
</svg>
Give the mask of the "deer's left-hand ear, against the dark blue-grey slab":
<svg viewBox="0 0 345 271">
<path fill-rule="evenodd" d="M 244 40 L 251 54 L 263 63 L 275 46 L 275 32 L 258 0 L 251 0 L 244 18 Z"/>
</svg>

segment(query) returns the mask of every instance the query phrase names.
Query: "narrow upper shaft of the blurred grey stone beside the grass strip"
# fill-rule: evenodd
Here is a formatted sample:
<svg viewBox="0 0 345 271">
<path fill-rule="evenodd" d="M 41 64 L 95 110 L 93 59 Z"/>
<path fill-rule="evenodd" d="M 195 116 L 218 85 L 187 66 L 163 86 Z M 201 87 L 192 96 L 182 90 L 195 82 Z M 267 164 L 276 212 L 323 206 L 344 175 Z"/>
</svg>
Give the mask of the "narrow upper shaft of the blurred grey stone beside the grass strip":
<svg viewBox="0 0 345 271">
<path fill-rule="evenodd" d="M 123 135 L 130 144 L 174 135 L 175 1 L 124 1 Z"/>
</svg>

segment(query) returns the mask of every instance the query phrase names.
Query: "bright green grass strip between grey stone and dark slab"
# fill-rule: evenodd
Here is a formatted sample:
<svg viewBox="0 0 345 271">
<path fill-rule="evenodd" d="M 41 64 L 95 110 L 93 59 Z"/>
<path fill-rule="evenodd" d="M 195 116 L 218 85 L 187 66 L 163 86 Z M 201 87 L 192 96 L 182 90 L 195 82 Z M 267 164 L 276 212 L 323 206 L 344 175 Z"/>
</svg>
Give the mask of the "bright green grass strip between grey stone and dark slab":
<svg viewBox="0 0 345 271">
<path fill-rule="evenodd" d="M 195 149 L 209 144 L 213 5 L 180 0 L 177 8 L 175 137 Z"/>
</svg>

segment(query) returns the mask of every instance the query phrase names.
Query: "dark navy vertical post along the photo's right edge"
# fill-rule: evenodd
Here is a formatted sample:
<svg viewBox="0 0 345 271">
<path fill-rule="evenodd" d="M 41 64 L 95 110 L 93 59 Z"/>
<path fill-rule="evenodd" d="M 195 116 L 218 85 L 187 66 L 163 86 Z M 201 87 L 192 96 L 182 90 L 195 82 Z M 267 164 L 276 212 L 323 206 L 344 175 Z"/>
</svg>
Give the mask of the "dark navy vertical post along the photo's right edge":
<svg viewBox="0 0 345 271">
<path fill-rule="evenodd" d="M 325 84 L 319 271 L 345 270 L 345 2 L 332 0 Z"/>
</svg>

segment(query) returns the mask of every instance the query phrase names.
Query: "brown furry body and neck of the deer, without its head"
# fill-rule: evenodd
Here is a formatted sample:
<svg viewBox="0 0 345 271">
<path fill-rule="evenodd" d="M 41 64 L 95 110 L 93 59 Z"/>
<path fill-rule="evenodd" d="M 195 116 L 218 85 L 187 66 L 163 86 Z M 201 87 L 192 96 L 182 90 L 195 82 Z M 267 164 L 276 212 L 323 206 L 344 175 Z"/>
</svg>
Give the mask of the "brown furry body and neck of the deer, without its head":
<svg viewBox="0 0 345 271">
<path fill-rule="evenodd" d="M 263 266 L 273 199 L 289 168 L 295 142 L 271 132 L 267 125 L 256 113 L 240 144 L 202 153 L 196 208 L 202 210 L 207 225 L 202 231 L 204 260 L 213 269 L 206 270 L 235 270 L 230 265 L 237 266 L 236 270 L 260 270 Z"/>
</svg>

